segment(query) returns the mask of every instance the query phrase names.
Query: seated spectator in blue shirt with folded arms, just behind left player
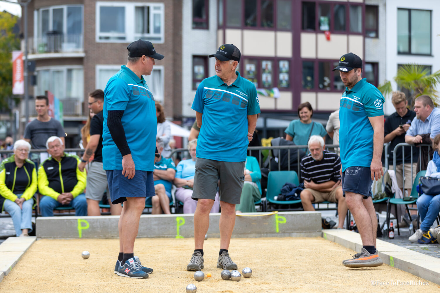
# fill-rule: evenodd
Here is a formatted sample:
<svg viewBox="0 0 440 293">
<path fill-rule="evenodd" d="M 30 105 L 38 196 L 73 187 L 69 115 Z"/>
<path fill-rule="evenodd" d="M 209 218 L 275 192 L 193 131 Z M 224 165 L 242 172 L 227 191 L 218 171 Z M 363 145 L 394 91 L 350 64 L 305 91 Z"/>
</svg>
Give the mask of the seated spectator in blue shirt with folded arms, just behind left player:
<svg viewBox="0 0 440 293">
<path fill-rule="evenodd" d="M 162 154 L 164 143 L 160 137 L 156 139 L 156 147 L 158 152 Z M 165 159 L 162 155 L 154 163 L 154 192 L 156 195 L 145 199 L 146 205 L 151 205 L 151 214 L 170 214 L 170 202 L 172 202 L 171 188 L 172 181 L 176 175 L 176 166 L 172 159 Z"/>
</svg>

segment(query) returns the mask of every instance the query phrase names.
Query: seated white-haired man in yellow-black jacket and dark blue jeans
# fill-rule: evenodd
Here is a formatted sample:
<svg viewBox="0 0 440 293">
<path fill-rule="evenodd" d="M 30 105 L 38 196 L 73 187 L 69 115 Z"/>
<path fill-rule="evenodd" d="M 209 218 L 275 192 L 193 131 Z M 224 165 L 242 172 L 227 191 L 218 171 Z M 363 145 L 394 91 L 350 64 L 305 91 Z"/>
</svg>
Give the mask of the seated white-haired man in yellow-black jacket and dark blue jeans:
<svg viewBox="0 0 440 293">
<path fill-rule="evenodd" d="M 38 168 L 38 190 L 43 195 L 41 214 L 51 217 L 56 207 L 72 206 L 75 216 L 87 216 L 87 201 L 83 193 L 87 175 L 78 168 L 80 159 L 64 152 L 64 144 L 58 136 L 49 137 L 46 147 L 51 156 Z"/>
</svg>

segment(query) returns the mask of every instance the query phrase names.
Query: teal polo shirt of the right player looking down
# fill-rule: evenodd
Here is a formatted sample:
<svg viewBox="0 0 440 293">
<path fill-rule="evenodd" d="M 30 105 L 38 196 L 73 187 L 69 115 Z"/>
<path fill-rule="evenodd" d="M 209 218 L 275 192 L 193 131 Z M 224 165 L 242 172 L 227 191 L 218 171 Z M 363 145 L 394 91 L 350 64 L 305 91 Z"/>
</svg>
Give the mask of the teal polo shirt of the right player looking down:
<svg viewBox="0 0 440 293">
<path fill-rule="evenodd" d="M 339 106 L 339 145 L 342 171 L 348 167 L 370 167 L 373 159 L 373 127 L 368 117 L 384 115 L 384 97 L 367 79 L 348 90 Z"/>
</svg>

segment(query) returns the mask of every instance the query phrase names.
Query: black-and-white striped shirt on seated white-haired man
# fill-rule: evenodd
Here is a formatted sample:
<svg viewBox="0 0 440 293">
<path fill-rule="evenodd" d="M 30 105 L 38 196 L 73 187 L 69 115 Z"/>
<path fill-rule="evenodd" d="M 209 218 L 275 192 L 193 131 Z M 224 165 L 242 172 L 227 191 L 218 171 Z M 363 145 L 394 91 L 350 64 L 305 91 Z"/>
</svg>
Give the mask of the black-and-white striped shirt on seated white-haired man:
<svg viewBox="0 0 440 293">
<path fill-rule="evenodd" d="M 315 161 L 309 154 L 301 159 L 301 181 L 313 181 L 316 184 L 327 181 L 337 182 L 341 180 L 341 159 L 334 152 L 323 151 L 323 159 Z"/>
</svg>

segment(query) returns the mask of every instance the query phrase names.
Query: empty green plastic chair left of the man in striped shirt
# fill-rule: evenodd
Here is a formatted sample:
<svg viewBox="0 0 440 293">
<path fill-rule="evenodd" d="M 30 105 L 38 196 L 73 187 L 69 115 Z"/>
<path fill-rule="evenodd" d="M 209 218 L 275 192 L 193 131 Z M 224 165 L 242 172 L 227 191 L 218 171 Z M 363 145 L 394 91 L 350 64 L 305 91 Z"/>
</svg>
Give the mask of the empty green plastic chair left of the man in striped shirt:
<svg viewBox="0 0 440 293">
<path fill-rule="evenodd" d="M 275 200 L 281 188 L 286 182 L 299 185 L 298 174 L 295 171 L 270 171 L 268 175 L 268 190 L 266 192 L 265 210 L 268 210 L 268 204 L 278 204 L 288 206 L 291 204 L 301 203 L 301 199 L 297 200 Z"/>
</svg>

